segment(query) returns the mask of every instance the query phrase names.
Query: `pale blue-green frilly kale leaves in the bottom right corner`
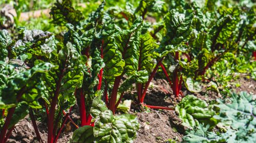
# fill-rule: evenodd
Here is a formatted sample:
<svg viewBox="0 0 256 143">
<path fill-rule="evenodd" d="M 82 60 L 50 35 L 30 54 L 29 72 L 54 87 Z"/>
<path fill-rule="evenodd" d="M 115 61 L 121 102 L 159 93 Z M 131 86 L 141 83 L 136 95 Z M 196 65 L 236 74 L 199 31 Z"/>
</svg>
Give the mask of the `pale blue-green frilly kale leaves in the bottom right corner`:
<svg viewBox="0 0 256 143">
<path fill-rule="evenodd" d="M 255 140 L 255 102 L 252 95 L 232 93 L 230 101 L 218 99 L 219 115 L 214 118 L 226 124 L 225 133 L 211 132 L 209 125 L 187 130 L 183 142 L 253 142 Z M 231 124 L 229 123 L 231 122 Z M 228 127 L 230 125 L 230 127 Z"/>
</svg>

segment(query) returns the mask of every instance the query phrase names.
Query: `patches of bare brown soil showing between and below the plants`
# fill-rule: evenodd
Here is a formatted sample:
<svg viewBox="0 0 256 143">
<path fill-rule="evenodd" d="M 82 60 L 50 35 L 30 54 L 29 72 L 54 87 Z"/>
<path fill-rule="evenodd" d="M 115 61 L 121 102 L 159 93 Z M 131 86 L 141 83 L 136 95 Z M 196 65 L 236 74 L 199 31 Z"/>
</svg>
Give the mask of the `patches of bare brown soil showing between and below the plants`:
<svg viewBox="0 0 256 143">
<path fill-rule="evenodd" d="M 241 77 L 238 80 L 241 84 L 240 87 L 232 87 L 235 91 L 247 91 L 252 94 L 256 94 L 255 86 L 256 81 L 253 79 L 247 79 Z M 181 98 L 175 98 L 172 90 L 168 83 L 163 79 L 156 79 L 152 81 L 154 83 L 151 86 L 145 96 L 144 102 L 148 105 L 174 107 Z M 187 90 L 182 89 L 184 95 L 191 94 Z M 125 93 L 124 99 L 132 99 L 136 101 L 135 88 L 130 92 Z M 195 94 L 197 97 L 209 101 L 218 98 L 218 93 L 207 92 L 207 96 L 201 94 Z M 138 130 L 137 138 L 134 140 L 135 143 L 154 143 L 154 142 L 181 142 L 185 131 L 185 127 L 181 125 L 181 120 L 178 118 L 177 113 L 174 110 L 155 110 L 141 108 L 137 104 L 132 103 L 131 111 L 129 112 L 138 117 L 140 123 L 140 129 Z M 75 123 L 79 122 L 79 109 L 75 105 L 72 112 L 71 118 Z M 47 142 L 47 124 L 38 123 L 38 129 L 41 134 L 42 140 Z M 79 123 L 78 123 L 79 124 Z M 69 131 L 61 133 L 58 142 L 68 142 L 72 137 L 75 127 L 73 125 Z M 12 135 L 8 139 L 9 143 L 16 142 L 38 142 L 34 133 L 32 123 L 27 116 L 25 119 L 20 121 L 12 132 Z"/>
</svg>

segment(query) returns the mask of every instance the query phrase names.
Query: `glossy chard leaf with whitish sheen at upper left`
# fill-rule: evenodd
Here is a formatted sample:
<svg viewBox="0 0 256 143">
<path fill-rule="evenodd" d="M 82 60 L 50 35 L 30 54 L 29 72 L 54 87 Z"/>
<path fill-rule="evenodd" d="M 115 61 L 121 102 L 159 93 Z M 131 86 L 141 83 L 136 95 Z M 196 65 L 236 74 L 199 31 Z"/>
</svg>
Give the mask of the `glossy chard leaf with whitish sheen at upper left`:
<svg viewBox="0 0 256 143">
<path fill-rule="evenodd" d="M 50 32 L 27 30 L 25 27 L 19 27 L 18 37 L 20 40 L 15 43 L 12 50 L 17 59 L 29 60 L 30 65 L 34 65 L 34 61 L 38 60 L 39 57 L 48 61 L 49 54 L 57 49 L 55 37 Z"/>
</svg>

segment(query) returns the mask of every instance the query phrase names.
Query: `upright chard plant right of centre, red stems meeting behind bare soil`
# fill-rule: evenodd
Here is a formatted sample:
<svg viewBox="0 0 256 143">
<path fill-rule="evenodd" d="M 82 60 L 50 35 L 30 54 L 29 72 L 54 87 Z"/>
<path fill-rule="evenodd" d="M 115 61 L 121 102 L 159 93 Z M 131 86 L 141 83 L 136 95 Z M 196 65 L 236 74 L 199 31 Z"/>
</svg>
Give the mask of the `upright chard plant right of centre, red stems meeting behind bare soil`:
<svg viewBox="0 0 256 143">
<path fill-rule="evenodd" d="M 186 41 L 191 33 L 191 23 L 193 19 L 192 10 L 170 10 L 164 18 L 164 24 L 166 28 L 166 35 L 161 41 L 158 51 L 160 52 L 160 60 L 157 67 L 161 66 L 167 81 L 172 88 L 174 95 L 179 96 L 182 85 L 182 67 L 180 66 L 180 53 L 187 50 Z M 165 58 L 167 56 L 167 58 Z M 163 59 L 165 60 L 163 61 Z M 171 65 L 169 72 L 172 74 L 169 76 L 165 65 L 165 62 Z M 156 72 L 157 69 L 154 71 Z M 150 78 L 151 79 L 151 78 Z M 144 96 L 144 95 L 143 95 Z"/>
</svg>

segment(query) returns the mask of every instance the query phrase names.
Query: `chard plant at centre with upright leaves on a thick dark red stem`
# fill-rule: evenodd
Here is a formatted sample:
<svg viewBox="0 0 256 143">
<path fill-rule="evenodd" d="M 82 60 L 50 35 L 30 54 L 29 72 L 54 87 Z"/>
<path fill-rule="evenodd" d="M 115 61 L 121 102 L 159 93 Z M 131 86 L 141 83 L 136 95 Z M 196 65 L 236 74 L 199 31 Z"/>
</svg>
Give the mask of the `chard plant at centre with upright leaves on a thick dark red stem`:
<svg viewBox="0 0 256 143">
<path fill-rule="evenodd" d="M 105 63 L 103 71 L 105 102 L 114 113 L 124 92 L 131 87 L 133 82 L 145 82 L 147 73 L 137 71 L 142 19 L 136 19 L 129 30 L 121 30 L 113 23 L 114 21 L 109 22 L 99 37 L 102 43 L 99 43 L 98 49 L 102 48 Z M 128 78 L 120 85 L 124 75 Z M 120 94 L 119 99 L 117 99 L 118 94 Z"/>
</svg>

